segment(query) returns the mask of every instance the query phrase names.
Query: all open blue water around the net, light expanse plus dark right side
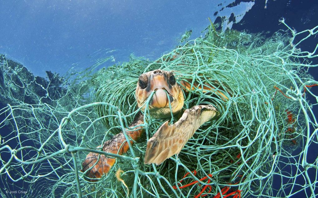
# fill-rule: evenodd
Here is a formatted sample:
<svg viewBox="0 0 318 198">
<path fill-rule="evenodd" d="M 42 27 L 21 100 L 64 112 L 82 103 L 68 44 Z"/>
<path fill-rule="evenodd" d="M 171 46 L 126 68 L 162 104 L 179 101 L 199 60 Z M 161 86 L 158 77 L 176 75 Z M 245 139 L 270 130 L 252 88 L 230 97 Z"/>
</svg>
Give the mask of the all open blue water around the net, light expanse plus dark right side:
<svg viewBox="0 0 318 198">
<path fill-rule="evenodd" d="M 82 70 L 97 58 L 109 55 L 114 56 L 115 62 L 128 61 L 132 53 L 155 60 L 176 46 L 186 30 L 193 30 L 191 38 L 200 36 L 209 25 L 207 17 L 220 21 L 214 13 L 225 2 L 234 1 L 3 1 L 0 54 L 22 62 L 32 73 L 43 77 L 47 70 L 58 73 L 72 67 Z M 235 1 L 234 5 L 239 2 L 250 1 Z M 252 9 L 232 28 L 268 32 L 270 36 L 278 29 L 285 29 L 278 22 L 281 17 L 298 31 L 318 23 L 317 0 L 265 2 L 253 2 Z M 317 40 L 305 41 L 301 49 L 313 51 Z M 317 59 L 313 61 L 318 63 Z M 317 80 L 317 68 L 309 71 Z M 315 103 L 315 99 L 310 100 Z M 314 112 L 317 115 L 317 108 Z M 315 148 L 310 148 L 309 153 L 308 161 L 315 161 Z"/>
</svg>

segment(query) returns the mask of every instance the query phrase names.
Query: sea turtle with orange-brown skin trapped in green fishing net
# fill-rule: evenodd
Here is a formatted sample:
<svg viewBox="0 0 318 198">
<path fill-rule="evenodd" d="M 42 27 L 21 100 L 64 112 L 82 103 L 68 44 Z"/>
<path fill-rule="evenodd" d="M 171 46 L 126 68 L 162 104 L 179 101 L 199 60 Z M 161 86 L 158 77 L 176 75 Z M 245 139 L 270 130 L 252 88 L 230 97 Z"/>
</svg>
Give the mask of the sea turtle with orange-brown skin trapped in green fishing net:
<svg viewBox="0 0 318 198">
<path fill-rule="evenodd" d="M 173 114 L 177 114 L 182 110 L 184 104 L 182 88 L 185 91 L 190 91 L 194 89 L 194 86 L 200 87 L 203 92 L 212 90 L 213 93 L 220 95 L 223 100 L 228 99 L 223 91 L 213 91 L 215 88 L 208 85 L 199 86 L 198 84 L 194 84 L 191 86 L 187 80 L 181 80 L 180 84 L 181 86 L 176 83 L 174 73 L 170 71 L 156 69 L 141 74 L 135 91 L 138 107 L 143 112 L 146 106 L 144 104 L 152 96 L 149 100 L 150 116 L 154 118 L 168 118 L 171 116 L 171 111 Z M 151 95 L 153 91 L 155 93 Z M 143 124 L 142 112 L 135 115 L 133 122 L 129 125 L 130 128 Z M 219 112 L 213 105 L 196 105 L 190 109 L 186 109 L 180 119 L 173 125 L 169 125 L 168 121 L 166 121 L 160 126 L 153 137 L 149 139 L 144 163 L 156 163 L 159 165 L 174 154 L 178 154 L 193 136 L 194 132 L 202 124 L 216 117 L 218 114 Z M 137 127 L 134 131 L 126 130 L 126 134 L 132 140 L 137 140 L 141 137 L 143 131 L 141 127 Z M 130 144 L 133 144 L 133 141 L 130 141 Z M 103 151 L 119 155 L 127 152 L 128 149 L 129 146 L 123 132 L 114 135 L 102 145 Z M 89 180 L 94 181 L 94 178 L 100 178 L 103 174 L 107 173 L 114 163 L 115 158 L 91 152 L 82 163 L 83 169 L 81 171 L 91 178 Z"/>
</svg>

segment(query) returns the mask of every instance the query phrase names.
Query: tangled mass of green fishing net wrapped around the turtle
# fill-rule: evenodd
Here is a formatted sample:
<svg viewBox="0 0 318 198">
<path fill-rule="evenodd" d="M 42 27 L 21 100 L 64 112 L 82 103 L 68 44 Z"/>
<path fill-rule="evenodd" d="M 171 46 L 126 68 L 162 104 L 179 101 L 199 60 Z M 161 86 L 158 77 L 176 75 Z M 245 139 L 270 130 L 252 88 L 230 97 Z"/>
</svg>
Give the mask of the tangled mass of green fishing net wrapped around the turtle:
<svg viewBox="0 0 318 198">
<path fill-rule="evenodd" d="M 308 100 L 318 98 L 310 90 L 317 81 L 308 68 L 318 66 L 309 62 L 318 56 L 318 45 L 313 53 L 299 46 L 318 33 L 318 26 L 299 33 L 286 27 L 265 38 L 221 33 L 211 24 L 204 38 L 155 62 L 132 57 L 94 72 L 107 61 L 103 59 L 81 73 L 64 78 L 52 74 L 49 83 L 1 57 L 0 91 L 9 104 L 1 110 L 0 127 L 10 132 L 1 133 L 5 188 L 0 194 L 14 197 L 6 190 L 23 190 L 24 197 L 218 198 L 290 197 L 303 191 L 315 197 L 317 180 L 310 175 L 317 175 L 317 160 L 310 162 L 307 155 L 310 147 L 317 147 L 318 124 L 312 111 L 316 103 Z M 298 37 L 302 39 L 296 42 Z M 166 120 L 151 118 L 147 111 L 145 135 L 127 154 L 96 148 L 128 128 L 140 111 L 134 97 L 138 77 L 154 69 L 174 71 L 178 83 L 186 79 L 199 85 L 184 93 L 184 109 L 212 104 L 220 117 L 200 127 L 178 157 L 159 166 L 145 165 L 143 157 L 146 140 Z M 204 84 L 229 100 L 203 93 Z M 117 159 L 98 182 L 86 181 L 79 171 L 88 152 Z"/>
</svg>

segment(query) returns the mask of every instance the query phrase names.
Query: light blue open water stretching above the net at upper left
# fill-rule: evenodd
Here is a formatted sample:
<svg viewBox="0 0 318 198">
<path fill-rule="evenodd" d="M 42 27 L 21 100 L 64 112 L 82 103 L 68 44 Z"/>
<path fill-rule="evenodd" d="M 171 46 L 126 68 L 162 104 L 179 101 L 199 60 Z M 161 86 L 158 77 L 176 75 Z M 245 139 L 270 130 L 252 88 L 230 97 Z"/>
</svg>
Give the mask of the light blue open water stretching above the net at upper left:
<svg viewBox="0 0 318 198">
<path fill-rule="evenodd" d="M 209 24 L 217 5 L 195 2 L 4 1 L 0 53 L 41 76 L 45 70 L 86 68 L 96 52 L 115 55 L 116 61 L 128 61 L 131 53 L 155 59 L 187 29 L 200 33 Z M 106 54 L 111 50 L 116 51 Z"/>
</svg>

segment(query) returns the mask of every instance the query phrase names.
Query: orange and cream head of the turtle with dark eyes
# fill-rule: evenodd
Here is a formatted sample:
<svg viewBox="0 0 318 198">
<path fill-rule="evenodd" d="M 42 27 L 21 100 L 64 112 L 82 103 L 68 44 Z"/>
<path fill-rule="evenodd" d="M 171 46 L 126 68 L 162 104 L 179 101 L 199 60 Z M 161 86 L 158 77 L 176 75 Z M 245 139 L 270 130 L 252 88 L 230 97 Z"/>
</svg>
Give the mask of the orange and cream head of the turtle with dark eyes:
<svg viewBox="0 0 318 198">
<path fill-rule="evenodd" d="M 136 100 L 138 107 L 145 110 L 147 99 L 155 91 L 149 100 L 149 112 L 155 118 L 166 118 L 172 113 L 179 112 L 183 107 L 184 97 L 180 86 L 176 83 L 172 72 L 156 69 L 139 76 L 136 88 Z M 168 96 L 167 96 L 168 93 Z"/>
</svg>

